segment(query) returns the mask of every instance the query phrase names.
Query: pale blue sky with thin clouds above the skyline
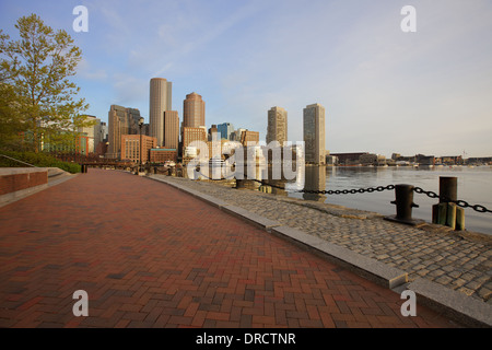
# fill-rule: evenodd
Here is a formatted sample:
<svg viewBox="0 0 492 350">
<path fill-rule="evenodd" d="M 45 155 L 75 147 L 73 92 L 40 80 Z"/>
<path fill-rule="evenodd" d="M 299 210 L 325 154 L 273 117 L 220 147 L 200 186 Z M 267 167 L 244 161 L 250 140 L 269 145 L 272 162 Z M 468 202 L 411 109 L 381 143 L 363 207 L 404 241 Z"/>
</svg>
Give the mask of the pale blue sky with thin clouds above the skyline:
<svg viewBox="0 0 492 350">
<path fill-rule="evenodd" d="M 75 33 L 75 5 L 89 32 Z M 417 32 L 403 33 L 403 5 Z M 289 113 L 303 139 L 303 108 L 326 107 L 326 148 L 390 156 L 492 155 L 490 0 L 2 0 L 3 32 L 38 14 L 66 30 L 83 52 L 74 81 L 107 120 L 112 104 L 148 120 L 149 81 L 173 82 L 206 101 L 206 122 L 260 131 L 267 112 Z"/>
</svg>

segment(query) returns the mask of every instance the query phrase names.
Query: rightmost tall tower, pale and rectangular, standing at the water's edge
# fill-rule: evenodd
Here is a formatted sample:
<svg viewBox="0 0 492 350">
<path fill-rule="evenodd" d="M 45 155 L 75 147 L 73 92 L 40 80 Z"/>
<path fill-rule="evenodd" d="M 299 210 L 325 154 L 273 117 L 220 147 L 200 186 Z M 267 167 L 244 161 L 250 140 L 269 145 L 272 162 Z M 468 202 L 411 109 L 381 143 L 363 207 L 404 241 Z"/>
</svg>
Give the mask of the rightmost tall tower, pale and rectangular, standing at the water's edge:
<svg viewBox="0 0 492 350">
<path fill-rule="evenodd" d="M 320 104 L 304 108 L 304 147 L 306 163 L 326 163 L 325 107 Z"/>
</svg>

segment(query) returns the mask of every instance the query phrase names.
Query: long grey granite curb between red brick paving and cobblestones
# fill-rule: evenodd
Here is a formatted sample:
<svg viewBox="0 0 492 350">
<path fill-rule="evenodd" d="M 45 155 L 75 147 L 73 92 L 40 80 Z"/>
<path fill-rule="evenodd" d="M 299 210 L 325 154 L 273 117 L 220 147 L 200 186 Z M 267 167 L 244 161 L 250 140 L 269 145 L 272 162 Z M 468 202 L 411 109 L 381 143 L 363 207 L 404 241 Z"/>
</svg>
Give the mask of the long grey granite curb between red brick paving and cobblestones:
<svg viewBox="0 0 492 350">
<path fill-rule="evenodd" d="M 469 327 L 492 327 L 492 305 L 480 302 L 460 292 L 434 283 L 423 278 L 408 282 L 408 272 L 385 265 L 384 262 L 363 256 L 348 248 L 308 235 L 300 230 L 284 226 L 276 221 L 251 213 L 243 208 L 232 206 L 212 196 L 201 194 L 180 184 L 165 178 L 147 176 L 150 179 L 165 183 L 183 190 L 197 199 L 209 202 L 237 218 L 244 219 L 267 232 L 286 238 L 288 241 L 308 249 L 348 270 L 371 280 L 379 285 L 401 293 L 402 290 L 413 291 L 419 303 L 422 303 L 446 316 Z"/>
</svg>

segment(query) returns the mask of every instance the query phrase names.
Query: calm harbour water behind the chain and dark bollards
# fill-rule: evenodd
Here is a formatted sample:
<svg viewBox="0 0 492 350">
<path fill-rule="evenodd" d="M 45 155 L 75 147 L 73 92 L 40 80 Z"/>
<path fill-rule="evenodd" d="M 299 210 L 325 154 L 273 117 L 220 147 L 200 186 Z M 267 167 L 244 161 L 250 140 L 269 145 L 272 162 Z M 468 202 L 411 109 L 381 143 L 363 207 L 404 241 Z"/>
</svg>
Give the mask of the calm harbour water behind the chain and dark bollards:
<svg viewBox="0 0 492 350">
<path fill-rule="evenodd" d="M 491 166 L 453 168 L 306 166 L 305 188 L 336 190 L 409 184 L 438 194 L 440 176 L 458 178 L 458 199 L 492 209 Z M 374 211 L 385 215 L 396 214 L 396 206 L 390 203 L 395 200 L 395 190 L 331 196 L 290 192 L 289 196 Z M 413 202 L 419 205 L 419 208 L 413 208 L 412 218 L 432 222 L 432 206 L 437 203 L 438 199 L 414 194 Z M 466 208 L 465 226 L 468 231 L 492 234 L 492 213 L 476 212 L 471 208 Z"/>
</svg>

